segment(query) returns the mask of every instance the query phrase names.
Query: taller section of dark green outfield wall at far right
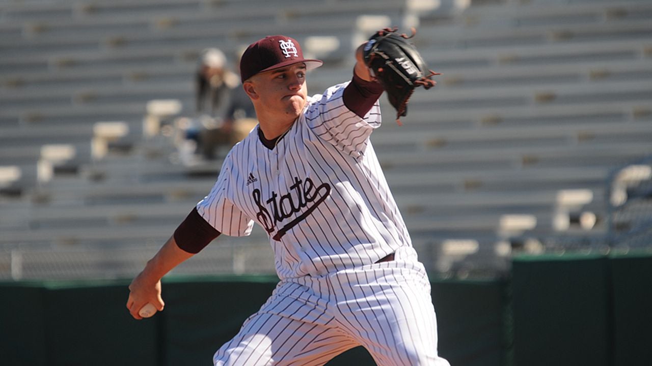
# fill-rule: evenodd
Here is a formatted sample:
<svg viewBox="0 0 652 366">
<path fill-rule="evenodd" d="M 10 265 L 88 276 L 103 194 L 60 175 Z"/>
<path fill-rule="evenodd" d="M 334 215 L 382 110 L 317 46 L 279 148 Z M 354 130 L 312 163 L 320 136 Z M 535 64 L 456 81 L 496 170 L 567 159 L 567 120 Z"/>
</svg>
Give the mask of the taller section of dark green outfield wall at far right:
<svg viewBox="0 0 652 366">
<path fill-rule="evenodd" d="M 652 254 L 542 255 L 512 263 L 516 366 L 652 364 Z"/>
</svg>

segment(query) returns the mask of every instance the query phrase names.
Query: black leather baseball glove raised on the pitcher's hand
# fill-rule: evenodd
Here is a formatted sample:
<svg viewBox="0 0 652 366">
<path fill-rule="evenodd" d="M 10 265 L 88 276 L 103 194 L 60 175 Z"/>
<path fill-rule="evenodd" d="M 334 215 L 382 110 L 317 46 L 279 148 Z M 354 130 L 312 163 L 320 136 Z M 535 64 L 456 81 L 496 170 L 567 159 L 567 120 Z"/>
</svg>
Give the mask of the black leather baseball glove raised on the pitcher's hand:
<svg viewBox="0 0 652 366">
<path fill-rule="evenodd" d="M 408 115 L 408 100 L 414 89 L 434 87 L 436 82 L 430 78 L 439 73 L 429 70 L 415 45 L 408 42 L 416 33 L 414 28 L 411 36 L 396 31 L 397 28 L 385 28 L 376 32 L 364 46 L 363 57 L 372 76 L 387 92 L 400 125 L 400 117 Z"/>
</svg>

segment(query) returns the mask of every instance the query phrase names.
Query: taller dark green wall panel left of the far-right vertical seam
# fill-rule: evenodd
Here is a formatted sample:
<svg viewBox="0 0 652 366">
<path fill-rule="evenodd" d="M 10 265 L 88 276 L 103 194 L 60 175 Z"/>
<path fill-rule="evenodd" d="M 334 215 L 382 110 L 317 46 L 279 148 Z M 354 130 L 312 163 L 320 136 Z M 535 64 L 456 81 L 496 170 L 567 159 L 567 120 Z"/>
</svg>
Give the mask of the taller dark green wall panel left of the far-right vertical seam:
<svg viewBox="0 0 652 366">
<path fill-rule="evenodd" d="M 610 365 L 607 268 L 602 256 L 514 260 L 516 365 Z"/>
</svg>

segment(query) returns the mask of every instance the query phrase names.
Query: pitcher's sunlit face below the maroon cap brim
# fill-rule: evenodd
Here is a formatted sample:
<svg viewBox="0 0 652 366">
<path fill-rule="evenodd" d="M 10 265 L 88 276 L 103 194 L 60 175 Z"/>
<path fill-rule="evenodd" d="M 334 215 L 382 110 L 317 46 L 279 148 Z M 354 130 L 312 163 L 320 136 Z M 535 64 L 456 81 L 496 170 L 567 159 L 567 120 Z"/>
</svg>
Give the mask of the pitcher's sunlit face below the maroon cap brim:
<svg viewBox="0 0 652 366">
<path fill-rule="evenodd" d="M 259 106 L 279 117 L 296 119 L 306 105 L 306 65 L 293 64 L 256 75 Z"/>
</svg>

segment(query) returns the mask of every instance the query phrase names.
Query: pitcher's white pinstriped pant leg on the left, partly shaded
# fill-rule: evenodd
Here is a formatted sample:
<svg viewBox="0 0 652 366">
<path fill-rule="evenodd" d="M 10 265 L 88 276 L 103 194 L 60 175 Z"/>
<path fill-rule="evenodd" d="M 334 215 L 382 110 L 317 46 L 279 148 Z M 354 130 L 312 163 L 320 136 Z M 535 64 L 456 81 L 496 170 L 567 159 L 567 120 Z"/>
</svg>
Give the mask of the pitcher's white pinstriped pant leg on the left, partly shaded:
<svg viewBox="0 0 652 366">
<path fill-rule="evenodd" d="M 216 366 L 323 365 L 355 343 L 310 287 L 284 283 L 213 358 Z"/>
</svg>

